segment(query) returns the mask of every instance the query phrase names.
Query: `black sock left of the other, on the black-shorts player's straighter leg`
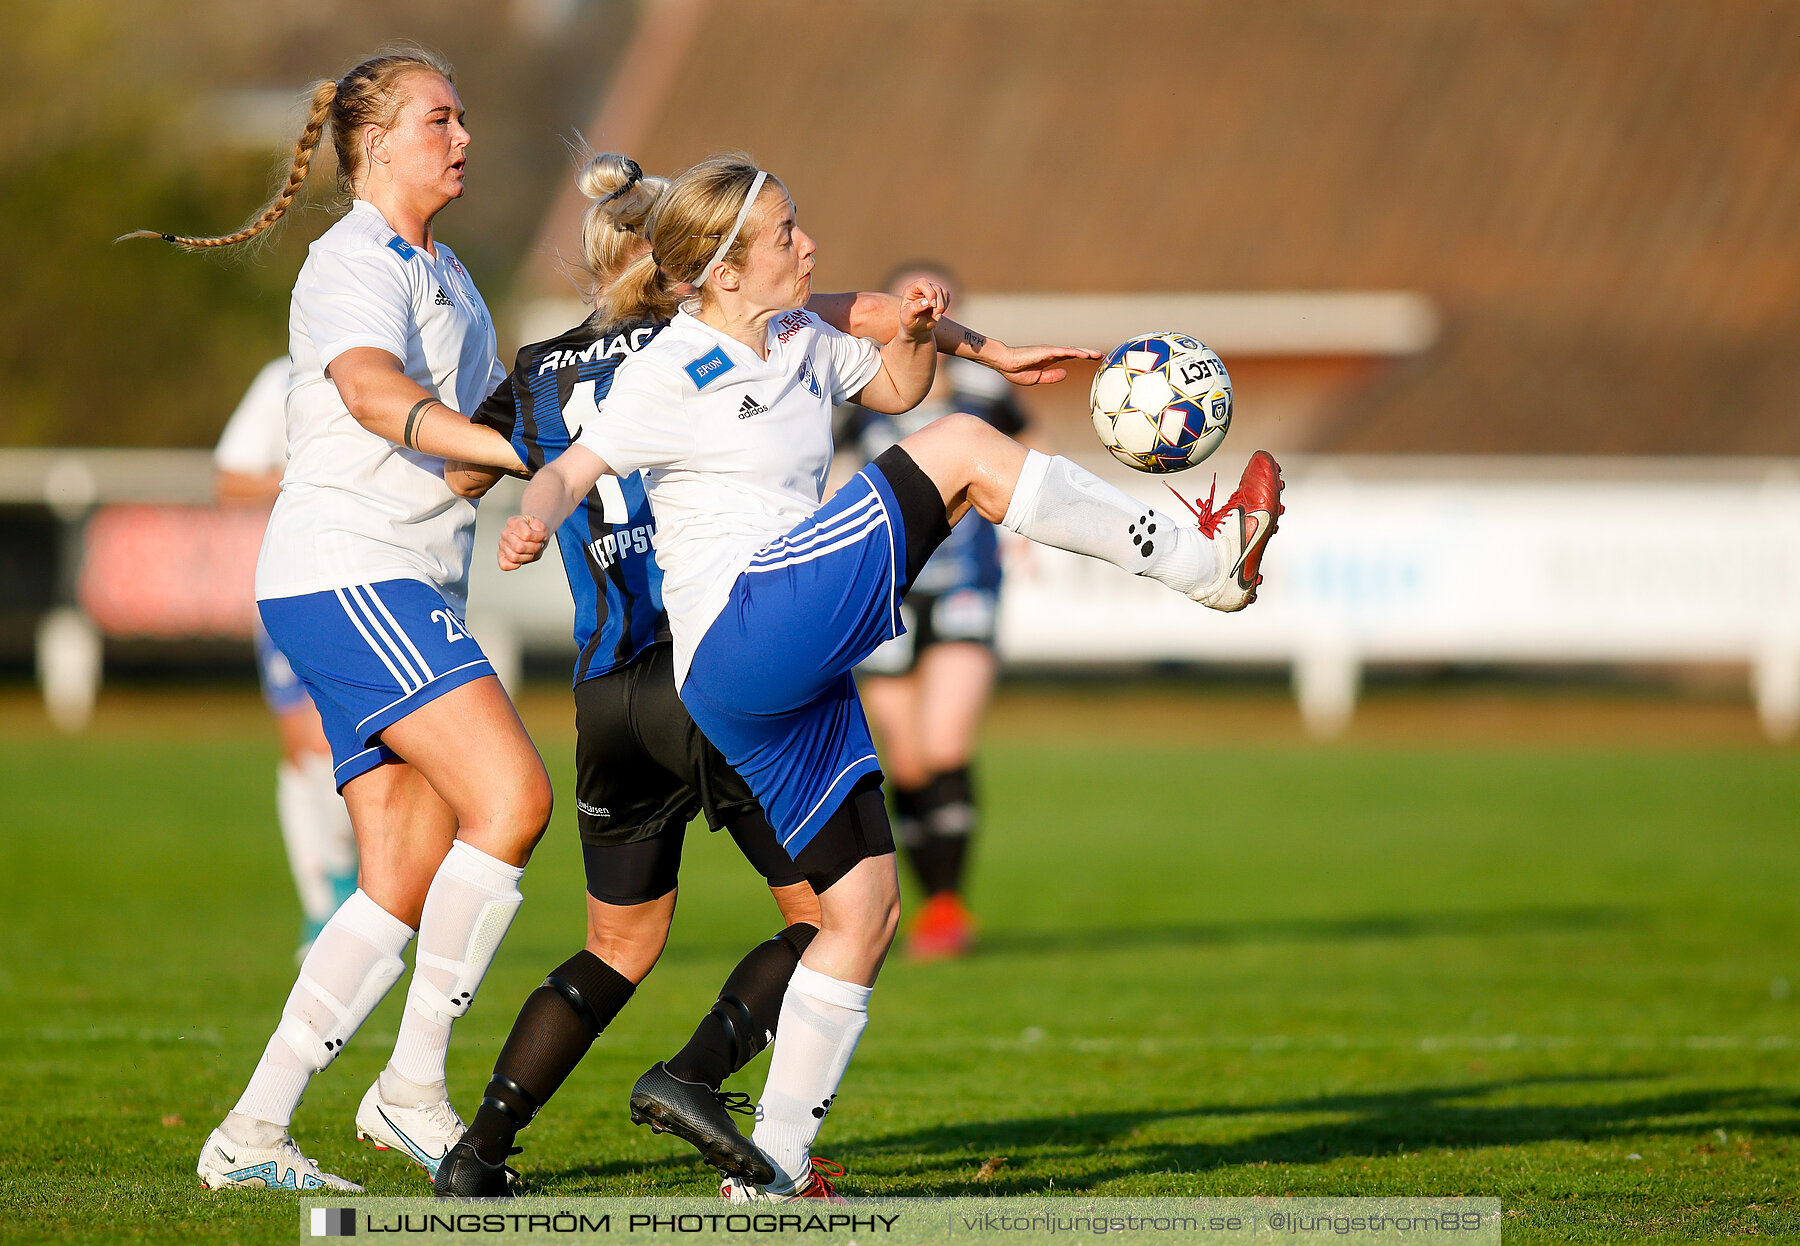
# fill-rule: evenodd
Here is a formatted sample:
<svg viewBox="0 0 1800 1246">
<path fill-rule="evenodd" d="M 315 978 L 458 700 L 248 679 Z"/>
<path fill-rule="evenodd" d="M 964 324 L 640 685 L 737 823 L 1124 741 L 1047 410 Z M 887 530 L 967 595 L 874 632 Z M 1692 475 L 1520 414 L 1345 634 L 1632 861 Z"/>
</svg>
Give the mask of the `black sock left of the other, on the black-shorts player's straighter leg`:
<svg viewBox="0 0 1800 1246">
<path fill-rule="evenodd" d="M 635 989 L 585 947 L 551 971 L 518 1010 L 463 1142 L 486 1163 L 502 1163 L 518 1131 L 574 1071 Z"/>
</svg>

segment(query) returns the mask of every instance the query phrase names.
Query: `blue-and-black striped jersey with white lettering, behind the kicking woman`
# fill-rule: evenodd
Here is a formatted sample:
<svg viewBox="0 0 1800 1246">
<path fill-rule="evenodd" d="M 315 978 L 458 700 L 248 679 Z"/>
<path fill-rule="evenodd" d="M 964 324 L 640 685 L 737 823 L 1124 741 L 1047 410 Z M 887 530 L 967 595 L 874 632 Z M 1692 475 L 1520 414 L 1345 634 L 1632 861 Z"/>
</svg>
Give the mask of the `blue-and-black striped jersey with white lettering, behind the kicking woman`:
<svg viewBox="0 0 1800 1246">
<path fill-rule="evenodd" d="M 596 313 L 567 333 L 520 349 L 511 375 L 472 416 L 509 438 L 531 472 L 581 436 L 581 420 L 592 418 L 596 400 L 607 396 L 619 362 L 664 328 L 598 321 Z M 625 479 L 599 477 L 556 529 L 574 596 L 574 682 L 605 675 L 670 637 L 662 567 L 650 549 L 653 531 L 644 481 L 635 472 Z"/>
</svg>

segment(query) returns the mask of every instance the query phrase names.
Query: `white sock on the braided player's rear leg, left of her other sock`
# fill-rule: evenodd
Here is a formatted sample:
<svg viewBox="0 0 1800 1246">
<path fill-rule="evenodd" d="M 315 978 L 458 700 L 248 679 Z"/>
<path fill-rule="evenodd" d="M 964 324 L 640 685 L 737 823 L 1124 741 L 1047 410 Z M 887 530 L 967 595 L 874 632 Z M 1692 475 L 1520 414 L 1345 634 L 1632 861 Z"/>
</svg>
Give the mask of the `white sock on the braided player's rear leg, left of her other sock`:
<svg viewBox="0 0 1800 1246">
<path fill-rule="evenodd" d="M 407 962 L 400 953 L 412 942 L 412 927 L 356 891 L 331 915 L 313 949 L 301 963 L 301 976 L 281 1008 L 275 1037 L 250 1075 L 250 1084 L 232 1109 L 286 1133 L 306 1082 L 344 1050 L 356 1028 L 400 981 Z M 227 1125 L 230 1120 L 227 1118 Z M 227 1133 L 232 1133 L 227 1127 Z M 238 1131 L 243 1133 L 243 1131 Z M 232 1134 L 236 1136 L 236 1133 Z M 247 1145 L 256 1138 L 238 1138 Z"/>
</svg>

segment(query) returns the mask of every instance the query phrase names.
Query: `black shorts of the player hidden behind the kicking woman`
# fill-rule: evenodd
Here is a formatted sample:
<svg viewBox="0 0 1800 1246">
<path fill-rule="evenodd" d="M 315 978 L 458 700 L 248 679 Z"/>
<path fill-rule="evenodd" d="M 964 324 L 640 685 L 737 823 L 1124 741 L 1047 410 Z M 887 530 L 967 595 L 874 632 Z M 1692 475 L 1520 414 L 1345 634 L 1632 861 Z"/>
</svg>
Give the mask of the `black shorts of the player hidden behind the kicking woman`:
<svg viewBox="0 0 1800 1246">
<path fill-rule="evenodd" d="M 711 830 L 731 830 L 769 886 L 803 879 L 751 789 L 688 717 L 668 641 L 576 684 L 574 724 L 576 826 L 596 900 L 644 904 L 675 889 L 688 823 L 702 812 Z"/>
</svg>

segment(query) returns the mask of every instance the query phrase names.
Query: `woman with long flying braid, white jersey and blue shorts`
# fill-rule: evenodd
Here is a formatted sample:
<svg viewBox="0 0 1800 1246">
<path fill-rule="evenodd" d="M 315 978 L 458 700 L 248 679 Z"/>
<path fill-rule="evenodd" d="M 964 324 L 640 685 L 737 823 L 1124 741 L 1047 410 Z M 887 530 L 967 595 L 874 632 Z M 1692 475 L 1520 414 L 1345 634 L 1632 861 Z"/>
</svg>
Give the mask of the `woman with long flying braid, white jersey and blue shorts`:
<svg viewBox="0 0 1800 1246">
<path fill-rule="evenodd" d="M 551 812 L 544 763 L 463 627 L 475 508 L 445 459 L 520 470 L 464 414 L 504 378 L 493 321 L 434 230 L 463 194 L 463 101 L 427 52 L 364 61 L 313 90 L 286 189 L 227 247 L 274 225 L 329 128 L 349 211 L 311 245 L 290 312 L 288 470 L 256 596 L 324 720 L 360 855 L 358 889 L 301 965 L 236 1107 L 207 1138 L 209 1188 L 360 1187 L 288 1136 L 324 1071 L 419 949 L 394 1055 L 356 1134 L 436 1172 L 463 1133 L 445 1086 L 468 1010 L 518 909 Z"/>
</svg>

